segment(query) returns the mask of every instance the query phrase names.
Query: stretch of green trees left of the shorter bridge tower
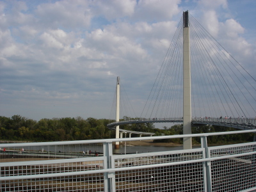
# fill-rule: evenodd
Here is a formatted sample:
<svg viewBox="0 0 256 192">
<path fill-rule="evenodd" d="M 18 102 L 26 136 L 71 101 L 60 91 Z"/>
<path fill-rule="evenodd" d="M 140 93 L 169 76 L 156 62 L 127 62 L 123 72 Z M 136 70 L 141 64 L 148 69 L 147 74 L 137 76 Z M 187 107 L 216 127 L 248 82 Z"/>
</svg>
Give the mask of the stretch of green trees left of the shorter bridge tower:
<svg viewBox="0 0 256 192">
<path fill-rule="evenodd" d="M 87 118 L 42 118 L 31 120 L 20 115 L 0 116 L 1 140 L 70 141 L 111 138 L 109 120 Z"/>
</svg>

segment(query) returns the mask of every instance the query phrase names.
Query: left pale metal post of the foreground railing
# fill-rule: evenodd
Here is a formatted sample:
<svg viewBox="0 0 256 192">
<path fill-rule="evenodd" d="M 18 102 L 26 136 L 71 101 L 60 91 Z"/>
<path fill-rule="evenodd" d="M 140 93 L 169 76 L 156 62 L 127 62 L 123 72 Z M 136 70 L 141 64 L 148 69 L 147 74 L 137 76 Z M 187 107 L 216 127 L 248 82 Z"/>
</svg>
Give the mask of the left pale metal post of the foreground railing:
<svg viewBox="0 0 256 192">
<path fill-rule="evenodd" d="M 106 157 L 106 162 L 104 162 L 104 168 L 115 168 L 115 162 L 112 161 L 113 157 L 113 148 L 112 142 L 103 143 L 103 152 Z M 116 183 L 115 183 L 115 172 L 106 172 L 104 173 L 104 191 L 115 192 Z"/>
</svg>

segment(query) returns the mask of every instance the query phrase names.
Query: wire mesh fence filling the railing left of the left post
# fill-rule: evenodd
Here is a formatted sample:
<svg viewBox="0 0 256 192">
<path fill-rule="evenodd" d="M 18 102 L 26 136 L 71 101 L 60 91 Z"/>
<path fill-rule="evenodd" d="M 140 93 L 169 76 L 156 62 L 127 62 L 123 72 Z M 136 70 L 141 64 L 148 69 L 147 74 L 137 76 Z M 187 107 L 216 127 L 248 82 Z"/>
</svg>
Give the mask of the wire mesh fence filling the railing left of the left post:
<svg viewBox="0 0 256 192">
<path fill-rule="evenodd" d="M 100 158 L 100 160 L 98 160 Z M 2 180 L 1 191 L 104 191 L 103 173 L 84 175 L 67 175 L 51 177 L 51 173 L 74 173 L 86 170 L 100 170 L 104 168 L 103 158 L 79 158 L 47 161 L 30 161 L 16 163 L 2 163 L 1 175 L 31 176 L 31 179 Z M 93 160 L 94 159 L 94 160 Z M 58 163 L 57 161 L 61 161 Z M 69 162 L 65 162 L 69 161 Z M 16 165 L 15 165 L 16 164 Z M 35 177 L 33 175 L 49 175 L 49 177 Z"/>
</svg>

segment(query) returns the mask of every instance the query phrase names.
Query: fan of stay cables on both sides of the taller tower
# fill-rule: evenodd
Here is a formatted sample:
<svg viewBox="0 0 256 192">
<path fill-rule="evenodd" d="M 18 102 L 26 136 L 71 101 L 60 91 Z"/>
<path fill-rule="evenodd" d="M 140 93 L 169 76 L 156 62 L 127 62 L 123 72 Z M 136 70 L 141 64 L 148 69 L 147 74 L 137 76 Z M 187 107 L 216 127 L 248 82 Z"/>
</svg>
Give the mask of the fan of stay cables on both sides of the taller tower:
<svg viewBox="0 0 256 192">
<path fill-rule="evenodd" d="M 256 81 L 191 15 L 191 106 L 195 116 L 256 116 Z M 180 19 L 141 118 L 182 116 L 182 28 Z"/>
</svg>

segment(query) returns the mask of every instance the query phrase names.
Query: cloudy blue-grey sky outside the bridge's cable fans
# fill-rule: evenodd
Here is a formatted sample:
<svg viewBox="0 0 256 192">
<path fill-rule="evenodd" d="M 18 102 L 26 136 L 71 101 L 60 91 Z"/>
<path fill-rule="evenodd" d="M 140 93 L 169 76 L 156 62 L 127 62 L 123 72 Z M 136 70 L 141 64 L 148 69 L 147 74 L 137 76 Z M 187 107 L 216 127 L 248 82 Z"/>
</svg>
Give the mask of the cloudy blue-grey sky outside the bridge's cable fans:
<svg viewBox="0 0 256 192">
<path fill-rule="evenodd" d="M 255 8 L 254 0 L 1 0 L 0 116 L 111 118 L 117 76 L 140 114 L 184 10 L 255 65 Z"/>
</svg>

